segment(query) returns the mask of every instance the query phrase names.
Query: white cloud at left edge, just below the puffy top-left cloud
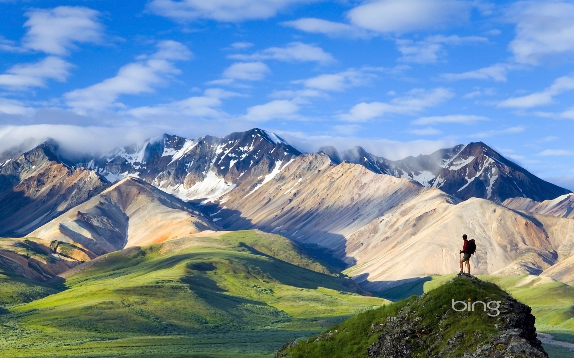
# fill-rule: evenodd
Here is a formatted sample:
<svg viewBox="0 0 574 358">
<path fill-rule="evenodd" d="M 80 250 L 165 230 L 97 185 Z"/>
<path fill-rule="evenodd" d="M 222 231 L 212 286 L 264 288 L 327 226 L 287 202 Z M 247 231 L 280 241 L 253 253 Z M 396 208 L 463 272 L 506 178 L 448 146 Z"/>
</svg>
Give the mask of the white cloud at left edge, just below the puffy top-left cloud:
<svg viewBox="0 0 574 358">
<path fill-rule="evenodd" d="M 18 64 L 0 74 L 0 86 L 12 90 L 45 87 L 46 80 L 64 82 L 72 64 L 59 57 L 48 56 L 31 64 Z"/>
</svg>

